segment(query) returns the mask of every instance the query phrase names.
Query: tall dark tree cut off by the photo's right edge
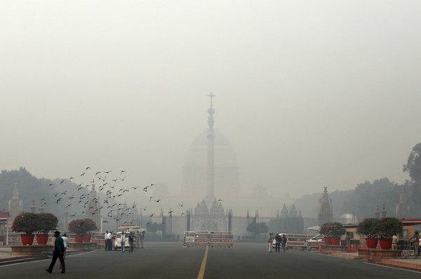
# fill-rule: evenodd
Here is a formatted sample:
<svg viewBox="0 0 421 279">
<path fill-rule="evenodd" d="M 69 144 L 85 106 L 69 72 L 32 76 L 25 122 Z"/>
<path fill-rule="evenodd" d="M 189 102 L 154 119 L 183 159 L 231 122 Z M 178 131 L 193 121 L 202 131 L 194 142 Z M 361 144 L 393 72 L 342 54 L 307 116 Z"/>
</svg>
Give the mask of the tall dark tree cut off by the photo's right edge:
<svg viewBox="0 0 421 279">
<path fill-rule="evenodd" d="M 408 162 L 403 165 L 403 172 L 408 172 L 413 193 L 421 202 L 421 143 L 413 147 Z"/>
</svg>

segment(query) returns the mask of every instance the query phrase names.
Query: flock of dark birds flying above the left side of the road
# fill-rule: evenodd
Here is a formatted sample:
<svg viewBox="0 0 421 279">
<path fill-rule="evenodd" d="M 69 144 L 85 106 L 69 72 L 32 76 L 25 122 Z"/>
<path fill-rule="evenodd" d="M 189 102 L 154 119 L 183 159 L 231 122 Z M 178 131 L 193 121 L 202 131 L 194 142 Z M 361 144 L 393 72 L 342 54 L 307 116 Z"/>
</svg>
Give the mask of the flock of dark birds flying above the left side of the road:
<svg viewBox="0 0 421 279">
<path fill-rule="evenodd" d="M 75 185 L 76 184 L 76 192 L 79 192 L 82 189 L 88 190 L 88 193 L 81 194 L 81 195 L 75 195 L 74 192 L 70 189 L 64 190 L 63 192 L 59 191 L 57 193 L 53 193 L 55 202 L 62 206 L 64 205 L 67 209 L 69 207 L 76 207 L 78 205 L 78 209 L 83 209 L 81 212 L 78 212 L 76 214 L 72 214 L 70 216 L 76 216 L 76 215 L 86 215 L 89 216 L 89 214 L 95 215 L 95 214 L 101 214 L 101 212 L 106 212 L 106 214 L 102 214 L 102 223 L 109 223 L 107 220 L 115 219 L 116 222 L 126 220 L 128 222 L 133 221 L 134 217 L 131 219 L 131 215 L 133 215 L 133 212 L 131 209 L 135 208 L 136 205 L 133 203 L 132 207 L 128 207 L 126 202 L 119 203 L 116 202 L 117 199 L 121 200 L 120 197 L 123 197 L 124 195 L 128 195 L 129 193 L 132 195 L 133 191 L 142 190 L 145 193 L 148 193 L 149 190 L 152 189 L 152 186 L 156 186 L 156 184 L 151 183 L 148 186 L 145 186 L 141 188 L 140 186 L 125 186 L 123 187 L 123 181 L 126 179 L 126 171 L 121 170 L 117 172 L 117 175 L 112 177 L 112 171 L 96 171 L 95 174 L 93 174 L 93 171 L 91 171 L 91 167 L 86 167 L 79 175 L 81 180 L 86 180 L 84 178 L 87 178 L 89 175 L 93 176 L 93 179 L 89 181 L 89 183 L 81 182 L 77 184 L 74 179 L 74 176 L 69 178 L 69 181 L 73 182 L 69 185 Z M 112 177 L 112 179 L 111 179 Z M 79 179 L 78 179 L 79 180 Z M 65 179 L 62 179 L 60 181 L 60 185 L 65 183 Z M 93 199 L 90 199 L 90 187 L 93 185 L 99 185 L 98 191 L 105 193 L 105 200 L 102 200 L 102 205 L 99 207 L 100 201 L 98 200 L 98 197 L 94 197 Z M 50 183 L 48 187 L 55 186 L 55 183 Z M 67 183 L 65 183 L 65 186 L 67 186 Z M 86 191 L 82 191 L 86 192 Z M 43 197 L 41 199 L 41 202 L 46 205 L 47 202 L 44 202 L 46 197 Z M 151 196 L 149 197 L 149 202 L 160 202 L 161 199 L 159 197 Z M 219 200 L 221 201 L 221 200 Z M 184 202 L 181 202 L 178 204 L 178 206 L 181 208 L 183 207 Z M 142 208 L 140 207 L 140 210 L 146 211 L 147 206 Z M 169 210 L 168 214 L 172 214 L 174 211 Z M 155 214 L 151 212 L 149 216 L 152 218 Z M 185 215 L 184 212 L 181 213 L 181 216 Z M 149 224 L 148 222 L 147 224 Z"/>
</svg>

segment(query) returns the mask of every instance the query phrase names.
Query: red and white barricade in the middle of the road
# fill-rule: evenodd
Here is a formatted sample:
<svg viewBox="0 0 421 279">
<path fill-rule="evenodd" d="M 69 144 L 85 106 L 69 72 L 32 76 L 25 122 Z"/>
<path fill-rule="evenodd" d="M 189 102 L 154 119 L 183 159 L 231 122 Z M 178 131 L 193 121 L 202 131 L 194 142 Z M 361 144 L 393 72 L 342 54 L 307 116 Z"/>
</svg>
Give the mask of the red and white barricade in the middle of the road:
<svg viewBox="0 0 421 279">
<path fill-rule="evenodd" d="M 228 231 L 185 231 L 185 247 L 233 247 L 234 233 Z"/>
</svg>

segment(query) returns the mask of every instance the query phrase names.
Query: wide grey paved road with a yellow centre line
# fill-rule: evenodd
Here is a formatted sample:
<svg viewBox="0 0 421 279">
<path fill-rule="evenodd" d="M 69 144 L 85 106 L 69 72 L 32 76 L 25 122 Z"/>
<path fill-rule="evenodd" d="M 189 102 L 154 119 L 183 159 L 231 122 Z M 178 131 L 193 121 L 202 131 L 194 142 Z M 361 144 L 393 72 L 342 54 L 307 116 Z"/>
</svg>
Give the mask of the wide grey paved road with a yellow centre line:
<svg viewBox="0 0 421 279">
<path fill-rule="evenodd" d="M 420 273 L 329 257 L 317 252 L 268 253 L 265 244 L 234 248 L 183 248 L 179 242 L 145 242 L 133 253 L 97 250 L 67 257 L 66 274 L 50 259 L 0 266 L 0 278 L 420 278 Z M 205 259 L 206 255 L 206 261 Z"/>
</svg>

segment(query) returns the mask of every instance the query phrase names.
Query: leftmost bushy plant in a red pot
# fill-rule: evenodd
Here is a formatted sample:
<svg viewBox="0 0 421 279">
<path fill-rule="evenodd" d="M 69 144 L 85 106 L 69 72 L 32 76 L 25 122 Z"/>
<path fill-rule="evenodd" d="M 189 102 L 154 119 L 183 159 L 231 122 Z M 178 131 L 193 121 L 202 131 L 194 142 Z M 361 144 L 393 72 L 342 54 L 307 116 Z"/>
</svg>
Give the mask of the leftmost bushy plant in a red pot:
<svg viewBox="0 0 421 279">
<path fill-rule="evenodd" d="M 18 214 L 13 221 L 12 231 L 23 232 L 20 235 L 22 245 L 32 245 L 34 231 L 39 231 L 39 215 L 32 212 Z"/>
</svg>

